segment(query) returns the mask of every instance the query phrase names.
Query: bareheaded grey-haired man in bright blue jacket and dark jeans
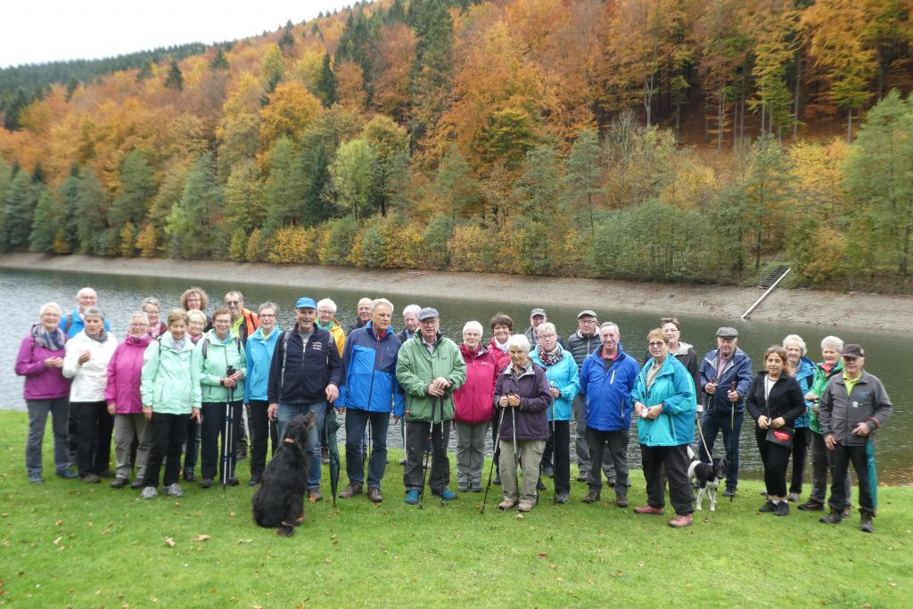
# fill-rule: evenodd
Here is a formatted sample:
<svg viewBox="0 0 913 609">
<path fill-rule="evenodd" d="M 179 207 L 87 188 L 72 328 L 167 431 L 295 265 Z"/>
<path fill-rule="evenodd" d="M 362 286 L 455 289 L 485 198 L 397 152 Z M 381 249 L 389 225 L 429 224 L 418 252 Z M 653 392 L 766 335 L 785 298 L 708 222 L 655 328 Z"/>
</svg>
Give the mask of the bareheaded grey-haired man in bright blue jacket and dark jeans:
<svg viewBox="0 0 913 609">
<path fill-rule="evenodd" d="M 345 460 L 349 486 L 340 493 L 348 499 L 364 488 L 362 438 L 371 422 L 373 446 L 368 461 L 368 499 L 383 501 L 381 479 L 387 461 L 387 426 L 403 416 L 404 398 L 396 382 L 396 355 L 400 339 L 390 327 L 394 305 L 387 299 L 371 303 L 371 320 L 353 330 L 342 352 L 342 389 L 338 413 L 345 413 Z"/>
</svg>

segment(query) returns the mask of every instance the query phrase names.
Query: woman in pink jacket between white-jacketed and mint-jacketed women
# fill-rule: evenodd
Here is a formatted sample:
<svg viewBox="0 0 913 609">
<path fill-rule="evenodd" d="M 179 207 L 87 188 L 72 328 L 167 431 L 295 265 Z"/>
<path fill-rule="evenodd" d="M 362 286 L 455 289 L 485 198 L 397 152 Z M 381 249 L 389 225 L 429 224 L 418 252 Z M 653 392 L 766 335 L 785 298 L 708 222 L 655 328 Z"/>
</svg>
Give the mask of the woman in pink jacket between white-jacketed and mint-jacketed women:
<svg viewBox="0 0 913 609">
<path fill-rule="evenodd" d="M 152 342 L 149 335 L 149 318 L 146 313 L 133 313 L 130 333 L 114 350 L 108 362 L 108 383 L 105 385 L 105 402 L 108 413 L 114 416 L 114 456 L 117 467 L 111 488 L 124 488 L 130 484 L 131 447 L 136 448 L 136 479 L 131 488 L 141 488 L 149 460 L 152 437 L 142 415 L 140 382 L 142 381 L 142 356 Z"/>
</svg>

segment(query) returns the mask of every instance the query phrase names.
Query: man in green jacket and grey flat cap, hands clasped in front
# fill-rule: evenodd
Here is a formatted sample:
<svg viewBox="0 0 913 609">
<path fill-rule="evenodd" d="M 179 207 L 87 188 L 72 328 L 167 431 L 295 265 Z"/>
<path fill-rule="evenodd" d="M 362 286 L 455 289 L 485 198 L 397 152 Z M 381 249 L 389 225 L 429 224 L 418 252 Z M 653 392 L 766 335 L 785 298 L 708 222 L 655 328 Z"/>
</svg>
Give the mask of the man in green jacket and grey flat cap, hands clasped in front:
<svg viewBox="0 0 913 609">
<path fill-rule="evenodd" d="M 441 336 L 440 315 L 426 307 L 418 312 L 419 331 L 400 348 L 396 380 L 405 394 L 405 502 L 418 503 L 425 492 L 422 457 L 431 437 L 432 462 L 428 486 L 441 499 L 456 499 L 447 488 L 450 461 L 447 439 L 454 418 L 454 392 L 466 383 L 466 362 L 456 342 Z"/>
</svg>

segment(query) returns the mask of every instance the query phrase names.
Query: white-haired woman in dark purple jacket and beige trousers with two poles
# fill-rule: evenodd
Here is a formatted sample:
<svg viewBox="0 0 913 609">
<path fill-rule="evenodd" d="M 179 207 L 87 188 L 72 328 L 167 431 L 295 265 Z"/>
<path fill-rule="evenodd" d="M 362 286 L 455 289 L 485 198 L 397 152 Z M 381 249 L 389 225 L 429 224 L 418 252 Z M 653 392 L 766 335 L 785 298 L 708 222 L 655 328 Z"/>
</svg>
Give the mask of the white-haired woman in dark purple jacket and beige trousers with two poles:
<svg viewBox="0 0 913 609">
<path fill-rule="evenodd" d="M 523 334 L 508 339 L 510 363 L 498 374 L 494 404 L 501 408 L 498 440 L 501 488 L 498 509 L 530 511 L 537 500 L 536 482 L 545 441 L 549 437 L 551 387 L 542 367 L 530 359 L 530 340 Z M 517 483 L 517 467 L 524 464 Z M 519 491 L 519 492 L 518 492 Z"/>
</svg>

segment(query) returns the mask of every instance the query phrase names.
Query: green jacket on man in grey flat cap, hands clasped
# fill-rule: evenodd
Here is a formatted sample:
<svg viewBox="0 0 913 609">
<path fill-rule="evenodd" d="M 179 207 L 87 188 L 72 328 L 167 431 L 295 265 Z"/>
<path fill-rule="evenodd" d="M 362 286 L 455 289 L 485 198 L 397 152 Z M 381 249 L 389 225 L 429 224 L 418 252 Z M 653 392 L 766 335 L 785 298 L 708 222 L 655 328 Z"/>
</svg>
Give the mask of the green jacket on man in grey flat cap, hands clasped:
<svg viewBox="0 0 913 609">
<path fill-rule="evenodd" d="M 450 382 L 450 390 L 441 402 L 428 395 L 428 386 L 443 376 Z M 405 393 L 405 420 L 451 421 L 454 418 L 454 392 L 466 383 L 466 362 L 456 342 L 437 334 L 435 354 L 432 355 L 422 341 L 421 332 L 405 341 L 396 355 L 396 380 Z M 442 407 L 443 406 L 443 407 Z"/>
</svg>

